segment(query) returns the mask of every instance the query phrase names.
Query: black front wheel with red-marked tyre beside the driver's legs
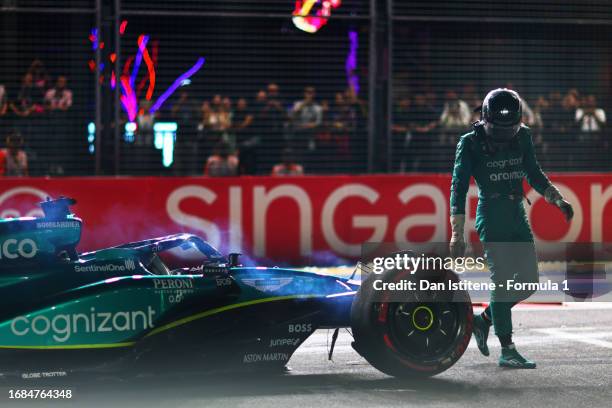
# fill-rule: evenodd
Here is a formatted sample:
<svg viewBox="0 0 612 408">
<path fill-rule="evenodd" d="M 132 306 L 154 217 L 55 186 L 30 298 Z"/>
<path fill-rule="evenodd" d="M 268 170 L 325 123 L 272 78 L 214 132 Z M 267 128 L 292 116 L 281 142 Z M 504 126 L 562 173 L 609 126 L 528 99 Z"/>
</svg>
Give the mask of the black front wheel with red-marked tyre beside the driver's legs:
<svg viewBox="0 0 612 408">
<path fill-rule="evenodd" d="M 418 275 L 418 276 L 417 276 Z M 455 364 L 465 352 L 473 328 L 466 291 L 403 291 L 390 294 L 373 288 L 382 282 L 458 282 L 450 270 L 386 270 L 370 273 L 351 308 L 353 348 L 373 367 L 394 377 L 430 377 Z"/>
</svg>

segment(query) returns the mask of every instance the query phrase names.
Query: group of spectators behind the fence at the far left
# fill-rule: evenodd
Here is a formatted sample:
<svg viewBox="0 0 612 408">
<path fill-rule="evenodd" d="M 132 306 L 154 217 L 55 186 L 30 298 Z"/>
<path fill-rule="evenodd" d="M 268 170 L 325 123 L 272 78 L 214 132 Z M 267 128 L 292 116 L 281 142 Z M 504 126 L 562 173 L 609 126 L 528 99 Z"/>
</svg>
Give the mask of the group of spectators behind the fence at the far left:
<svg viewBox="0 0 612 408">
<path fill-rule="evenodd" d="M 15 89 L 13 95 L 10 88 Z M 19 85 L 0 83 L 0 122 L 8 129 L 5 149 L 0 151 L 0 174 L 28 175 L 30 161 L 38 175 L 64 174 L 63 136 L 72 130 L 72 104 L 67 77 L 51 77 L 38 59 L 32 61 Z"/>
</svg>

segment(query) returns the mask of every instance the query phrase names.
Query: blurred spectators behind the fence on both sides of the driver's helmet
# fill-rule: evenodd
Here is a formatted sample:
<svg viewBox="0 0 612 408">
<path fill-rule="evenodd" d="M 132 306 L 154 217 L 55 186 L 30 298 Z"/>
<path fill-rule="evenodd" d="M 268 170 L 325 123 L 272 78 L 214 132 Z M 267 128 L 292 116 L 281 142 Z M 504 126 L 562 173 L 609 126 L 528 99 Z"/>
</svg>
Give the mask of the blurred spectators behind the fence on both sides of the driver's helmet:
<svg viewBox="0 0 612 408">
<path fill-rule="evenodd" d="M 512 84 L 507 84 L 513 88 Z M 519 89 L 520 92 L 520 89 Z M 398 99 L 393 114 L 395 171 L 450 171 L 461 134 L 480 119 L 482 103 L 474 86 L 443 100 L 423 92 Z M 523 123 L 531 128 L 538 158 L 549 170 L 610 167 L 612 153 L 606 111 L 595 95 L 577 89 L 523 99 Z"/>
</svg>

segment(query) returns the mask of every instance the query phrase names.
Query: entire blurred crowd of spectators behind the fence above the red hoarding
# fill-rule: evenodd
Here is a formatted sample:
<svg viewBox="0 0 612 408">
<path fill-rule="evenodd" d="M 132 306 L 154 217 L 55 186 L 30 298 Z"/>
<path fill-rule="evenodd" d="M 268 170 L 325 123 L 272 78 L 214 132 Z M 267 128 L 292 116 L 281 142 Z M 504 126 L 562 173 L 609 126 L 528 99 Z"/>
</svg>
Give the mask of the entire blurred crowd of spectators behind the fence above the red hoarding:
<svg viewBox="0 0 612 408">
<path fill-rule="evenodd" d="M 73 94 L 68 79 L 52 78 L 44 64 L 34 60 L 21 84 L 11 87 L 13 95 L 8 89 L 0 83 L 0 121 L 10 124 L 3 127 L 10 130 L 2 135 L 0 174 L 64 174 L 70 140 L 65 136 L 74 131 L 69 125 Z M 480 118 L 476 108 L 482 95 L 470 84 L 461 92 L 447 90 L 442 98 L 428 91 L 398 93 L 391 125 L 392 171 L 448 172 L 458 137 Z M 363 161 L 359 155 L 365 151 L 367 109 L 351 88 L 327 100 L 307 86 L 295 100 L 269 83 L 252 98 L 216 94 L 202 101 L 182 87 L 160 113 L 150 114 L 147 103 L 136 118 L 136 138 L 124 146 L 129 154 L 126 174 L 351 173 L 355 163 Z M 169 171 L 162 168 L 161 151 L 153 146 L 152 129 L 158 120 L 178 124 Z M 594 95 L 569 89 L 525 98 L 523 122 L 532 129 L 545 169 L 609 167 L 606 111 Z"/>
</svg>

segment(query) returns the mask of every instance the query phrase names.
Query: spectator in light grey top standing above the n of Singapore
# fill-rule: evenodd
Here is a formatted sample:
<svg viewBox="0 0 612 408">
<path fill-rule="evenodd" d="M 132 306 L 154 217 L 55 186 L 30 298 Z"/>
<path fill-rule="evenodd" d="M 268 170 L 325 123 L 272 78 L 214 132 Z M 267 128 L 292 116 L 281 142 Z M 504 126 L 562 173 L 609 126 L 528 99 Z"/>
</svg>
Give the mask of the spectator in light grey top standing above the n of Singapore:
<svg viewBox="0 0 612 408">
<path fill-rule="evenodd" d="M 304 88 L 304 99 L 295 102 L 290 113 L 292 146 L 302 155 L 314 150 L 314 136 L 323 123 L 323 109 L 315 101 L 315 95 L 314 87 Z"/>
</svg>

